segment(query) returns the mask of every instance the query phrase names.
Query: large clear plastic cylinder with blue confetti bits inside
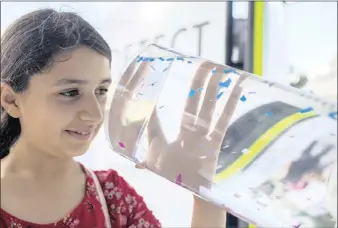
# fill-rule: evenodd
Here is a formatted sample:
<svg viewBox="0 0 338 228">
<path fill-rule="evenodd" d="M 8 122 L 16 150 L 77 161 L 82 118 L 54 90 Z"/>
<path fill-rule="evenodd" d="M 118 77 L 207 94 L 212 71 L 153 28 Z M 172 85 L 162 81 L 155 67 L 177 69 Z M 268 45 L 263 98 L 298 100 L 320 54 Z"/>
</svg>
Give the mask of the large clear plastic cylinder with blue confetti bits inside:
<svg viewBox="0 0 338 228">
<path fill-rule="evenodd" d="M 251 224 L 334 227 L 326 202 L 337 207 L 327 185 L 336 110 L 313 94 L 151 45 L 122 76 L 106 127 L 115 151 Z"/>
</svg>

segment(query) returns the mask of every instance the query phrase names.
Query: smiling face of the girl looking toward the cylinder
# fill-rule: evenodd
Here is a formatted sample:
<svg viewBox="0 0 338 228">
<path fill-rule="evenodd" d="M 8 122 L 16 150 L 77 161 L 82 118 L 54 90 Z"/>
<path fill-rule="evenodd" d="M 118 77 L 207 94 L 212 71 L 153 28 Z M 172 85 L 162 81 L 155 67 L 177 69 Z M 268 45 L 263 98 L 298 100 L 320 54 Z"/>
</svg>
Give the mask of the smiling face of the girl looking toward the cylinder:
<svg viewBox="0 0 338 228">
<path fill-rule="evenodd" d="M 58 55 L 17 95 L 22 140 L 57 157 L 85 153 L 103 123 L 110 82 L 109 60 L 96 51 Z"/>
</svg>

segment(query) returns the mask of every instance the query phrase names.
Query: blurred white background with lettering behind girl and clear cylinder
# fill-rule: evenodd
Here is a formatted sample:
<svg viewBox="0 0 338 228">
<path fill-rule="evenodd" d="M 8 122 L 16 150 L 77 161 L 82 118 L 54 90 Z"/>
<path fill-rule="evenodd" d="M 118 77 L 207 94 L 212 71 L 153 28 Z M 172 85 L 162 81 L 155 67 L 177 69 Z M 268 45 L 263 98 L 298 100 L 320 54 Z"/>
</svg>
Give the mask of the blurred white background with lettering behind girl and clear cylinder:
<svg viewBox="0 0 338 228">
<path fill-rule="evenodd" d="M 21 15 L 46 7 L 77 12 L 103 35 L 116 81 L 140 51 L 157 43 L 337 100 L 336 2 L 1 2 L 1 34 Z M 191 194 L 135 169 L 112 152 L 103 131 L 78 159 L 119 171 L 164 227 L 190 225 Z M 230 216 L 227 227 L 239 226 L 248 225 Z"/>
</svg>

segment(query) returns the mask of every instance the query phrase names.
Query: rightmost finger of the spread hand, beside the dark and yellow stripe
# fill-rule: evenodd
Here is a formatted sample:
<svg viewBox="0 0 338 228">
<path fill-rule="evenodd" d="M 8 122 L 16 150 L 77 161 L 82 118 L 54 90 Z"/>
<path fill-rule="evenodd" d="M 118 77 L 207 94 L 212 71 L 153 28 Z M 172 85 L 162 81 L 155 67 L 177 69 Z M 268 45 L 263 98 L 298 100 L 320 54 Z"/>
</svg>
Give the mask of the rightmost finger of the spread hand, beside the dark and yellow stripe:
<svg viewBox="0 0 338 228">
<path fill-rule="evenodd" d="M 237 80 L 234 88 L 231 91 L 229 99 L 224 106 L 222 115 L 219 117 L 217 124 L 215 126 L 215 130 L 211 134 L 211 138 L 216 139 L 218 141 L 222 141 L 224 135 L 228 129 L 229 122 L 235 112 L 237 104 L 239 102 L 239 98 L 242 94 L 241 83 L 245 80 L 245 76 L 240 76 Z"/>
</svg>

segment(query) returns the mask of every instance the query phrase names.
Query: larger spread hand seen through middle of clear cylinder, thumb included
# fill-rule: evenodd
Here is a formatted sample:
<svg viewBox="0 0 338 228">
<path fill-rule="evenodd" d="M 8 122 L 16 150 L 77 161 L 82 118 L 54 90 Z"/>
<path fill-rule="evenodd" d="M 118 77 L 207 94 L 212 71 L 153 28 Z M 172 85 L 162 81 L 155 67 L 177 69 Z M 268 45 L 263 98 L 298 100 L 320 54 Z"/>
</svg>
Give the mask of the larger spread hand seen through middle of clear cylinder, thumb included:
<svg viewBox="0 0 338 228">
<path fill-rule="evenodd" d="M 191 88 L 203 87 L 208 75 L 215 67 L 218 72 L 224 70 L 224 66 L 215 66 L 210 62 L 202 63 L 194 76 Z M 220 80 L 220 77 L 216 75 L 211 76 L 209 84 L 205 88 L 206 93 L 203 100 L 201 93 L 187 98 L 181 131 L 176 141 L 166 142 L 159 125 L 156 108 L 148 123 L 150 145 L 146 167 L 171 181 L 181 182 L 183 186 L 197 193 L 200 186 L 209 188 L 213 183 L 218 154 L 229 121 L 239 102 L 242 91 L 240 84 L 244 80 L 244 76 L 238 76 L 223 112 L 215 128 L 209 134 Z M 199 105 L 201 105 L 201 109 L 198 112 Z"/>
</svg>

